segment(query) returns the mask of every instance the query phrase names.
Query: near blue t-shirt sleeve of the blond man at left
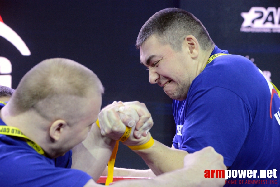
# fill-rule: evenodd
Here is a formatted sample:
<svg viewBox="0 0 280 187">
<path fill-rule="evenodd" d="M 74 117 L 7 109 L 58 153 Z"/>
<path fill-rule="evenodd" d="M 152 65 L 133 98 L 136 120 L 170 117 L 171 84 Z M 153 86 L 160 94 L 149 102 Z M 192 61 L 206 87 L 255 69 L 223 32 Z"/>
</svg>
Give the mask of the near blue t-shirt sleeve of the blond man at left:
<svg viewBox="0 0 280 187">
<path fill-rule="evenodd" d="M 55 167 L 52 159 L 27 151 L 21 149 L 2 157 L 0 186 L 82 187 L 92 178 L 80 170 Z"/>
</svg>

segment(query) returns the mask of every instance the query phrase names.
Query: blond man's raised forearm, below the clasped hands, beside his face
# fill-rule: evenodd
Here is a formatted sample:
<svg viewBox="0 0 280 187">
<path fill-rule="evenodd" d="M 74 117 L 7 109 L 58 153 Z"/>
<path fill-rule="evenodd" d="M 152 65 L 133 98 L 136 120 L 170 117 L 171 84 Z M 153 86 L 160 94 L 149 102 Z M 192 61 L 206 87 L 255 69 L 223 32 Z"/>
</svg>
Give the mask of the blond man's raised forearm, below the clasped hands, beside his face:
<svg viewBox="0 0 280 187">
<path fill-rule="evenodd" d="M 105 169 L 116 141 L 103 137 L 97 125 L 93 124 L 88 137 L 72 151 L 72 167 L 87 172 L 95 181 Z"/>
</svg>

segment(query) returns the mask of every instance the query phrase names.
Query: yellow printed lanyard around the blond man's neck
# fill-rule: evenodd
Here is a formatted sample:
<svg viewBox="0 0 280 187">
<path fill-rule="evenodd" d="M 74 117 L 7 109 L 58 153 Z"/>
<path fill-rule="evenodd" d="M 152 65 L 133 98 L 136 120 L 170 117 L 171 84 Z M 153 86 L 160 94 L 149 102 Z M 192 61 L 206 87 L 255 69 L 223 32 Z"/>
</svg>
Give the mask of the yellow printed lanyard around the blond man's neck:
<svg viewBox="0 0 280 187">
<path fill-rule="evenodd" d="M 15 136 L 21 137 L 26 139 L 26 143 L 31 146 L 35 151 L 37 151 L 40 155 L 46 156 L 44 150 L 36 144 L 34 141 L 30 140 L 27 136 L 25 136 L 21 130 L 17 127 L 11 127 L 6 125 L 0 125 L 0 134 L 8 135 L 8 136 Z"/>
</svg>

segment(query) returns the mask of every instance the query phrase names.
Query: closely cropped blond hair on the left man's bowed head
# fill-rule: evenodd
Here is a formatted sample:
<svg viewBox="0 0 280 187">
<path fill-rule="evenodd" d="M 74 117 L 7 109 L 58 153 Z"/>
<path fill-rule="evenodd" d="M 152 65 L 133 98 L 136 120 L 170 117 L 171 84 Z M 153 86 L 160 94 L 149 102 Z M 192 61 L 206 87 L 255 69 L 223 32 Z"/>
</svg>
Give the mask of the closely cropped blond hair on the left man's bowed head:
<svg viewBox="0 0 280 187">
<path fill-rule="evenodd" d="M 73 112 L 82 109 L 80 99 L 103 92 L 100 80 L 91 70 L 73 60 L 54 58 L 27 72 L 10 102 L 15 114 L 35 109 L 53 120 L 70 117 L 71 108 Z"/>
</svg>

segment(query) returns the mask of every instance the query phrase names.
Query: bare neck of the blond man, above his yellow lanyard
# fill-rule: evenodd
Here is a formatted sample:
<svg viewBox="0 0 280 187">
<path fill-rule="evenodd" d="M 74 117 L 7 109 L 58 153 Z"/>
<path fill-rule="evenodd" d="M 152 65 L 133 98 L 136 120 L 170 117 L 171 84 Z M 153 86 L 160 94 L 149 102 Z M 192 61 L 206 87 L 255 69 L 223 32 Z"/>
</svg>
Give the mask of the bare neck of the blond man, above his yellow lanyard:
<svg viewBox="0 0 280 187">
<path fill-rule="evenodd" d="M 51 155 L 50 140 L 48 140 L 48 122 L 35 111 L 14 114 L 10 103 L 0 111 L 0 117 L 7 126 L 17 127 L 30 140 L 38 144 L 47 155 Z"/>
</svg>

